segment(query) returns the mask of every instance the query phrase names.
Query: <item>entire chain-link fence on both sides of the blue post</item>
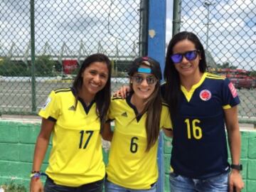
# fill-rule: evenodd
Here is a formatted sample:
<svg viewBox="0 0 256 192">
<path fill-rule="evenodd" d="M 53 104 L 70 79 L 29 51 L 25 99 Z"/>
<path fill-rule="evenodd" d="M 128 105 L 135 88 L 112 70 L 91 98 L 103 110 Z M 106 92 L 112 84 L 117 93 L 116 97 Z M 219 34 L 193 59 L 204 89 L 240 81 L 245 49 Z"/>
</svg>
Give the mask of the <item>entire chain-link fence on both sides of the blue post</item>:
<svg viewBox="0 0 256 192">
<path fill-rule="evenodd" d="M 0 113 L 36 112 L 50 90 L 70 86 L 91 53 L 111 58 L 112 89 L 119 87 L 127 64 L 146 53 L 147 2 L 1 1 Z M 174 0 L 173 32 L 199 36 L 209 70 L 238 87 L 244 121 L 256 117 L 255 12 L 252 0 Z"/>
</svg>

